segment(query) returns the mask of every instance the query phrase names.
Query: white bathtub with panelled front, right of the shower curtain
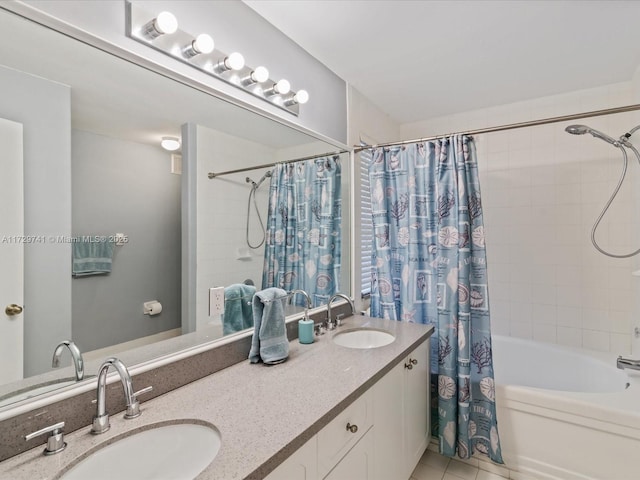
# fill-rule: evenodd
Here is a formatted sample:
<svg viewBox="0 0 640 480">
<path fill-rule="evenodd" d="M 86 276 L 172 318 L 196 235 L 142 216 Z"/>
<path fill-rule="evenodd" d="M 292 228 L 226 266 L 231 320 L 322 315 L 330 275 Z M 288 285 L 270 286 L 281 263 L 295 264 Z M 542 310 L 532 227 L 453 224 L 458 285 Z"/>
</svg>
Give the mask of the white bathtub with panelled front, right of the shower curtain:
<svg viewBox="0 0 640 480">
<path fill-rule="evenodd" d="M 498 430 L 512 478 L 640 479 L 640 372 L 615 355 L 494 335 Z"/>
</svg>

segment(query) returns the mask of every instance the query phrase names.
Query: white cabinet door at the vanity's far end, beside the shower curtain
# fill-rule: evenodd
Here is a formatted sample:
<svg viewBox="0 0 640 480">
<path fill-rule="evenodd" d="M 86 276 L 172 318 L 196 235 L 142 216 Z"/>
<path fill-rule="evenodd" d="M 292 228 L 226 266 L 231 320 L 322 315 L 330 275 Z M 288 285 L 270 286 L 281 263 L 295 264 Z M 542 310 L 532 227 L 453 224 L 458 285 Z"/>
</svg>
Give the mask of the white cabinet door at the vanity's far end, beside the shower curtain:
<svg viewBox="0 0 640 480">
<path fill-rule="evenodd" d="M 429 341 L 409 354 L 405 362 L 405 475 L 409 478 L 420 457 L 429 445 Z"/>
</svg>

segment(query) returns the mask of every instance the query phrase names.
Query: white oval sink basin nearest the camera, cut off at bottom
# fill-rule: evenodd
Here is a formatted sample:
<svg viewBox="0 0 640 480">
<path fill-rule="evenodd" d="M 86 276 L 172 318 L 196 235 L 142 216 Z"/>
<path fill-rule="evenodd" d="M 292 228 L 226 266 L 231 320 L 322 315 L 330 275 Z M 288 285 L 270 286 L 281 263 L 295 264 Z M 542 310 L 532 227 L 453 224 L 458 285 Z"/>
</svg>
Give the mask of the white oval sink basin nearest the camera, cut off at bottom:
<svg viewBox="0 0 640 480">
<path fill-rule="evenodd" d="M 98 447 L 60 479 L 193 479 L 219 450 L 220 432 L 215 427 L 165 423 Z"/>
</svg>

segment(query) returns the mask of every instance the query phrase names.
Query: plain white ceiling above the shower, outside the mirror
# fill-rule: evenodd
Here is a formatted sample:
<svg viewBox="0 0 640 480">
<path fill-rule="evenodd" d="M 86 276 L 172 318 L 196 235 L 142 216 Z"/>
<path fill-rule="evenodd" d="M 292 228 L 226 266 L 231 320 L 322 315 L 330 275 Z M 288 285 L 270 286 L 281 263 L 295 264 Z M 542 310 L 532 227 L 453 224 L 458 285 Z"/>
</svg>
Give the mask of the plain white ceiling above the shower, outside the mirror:
<svg viewBox="0 0 640 480">
<path fill-rule="evenodd" d="M 243 0 L 394 121 L 631 80 L 640 1 Z"/>
</svg>

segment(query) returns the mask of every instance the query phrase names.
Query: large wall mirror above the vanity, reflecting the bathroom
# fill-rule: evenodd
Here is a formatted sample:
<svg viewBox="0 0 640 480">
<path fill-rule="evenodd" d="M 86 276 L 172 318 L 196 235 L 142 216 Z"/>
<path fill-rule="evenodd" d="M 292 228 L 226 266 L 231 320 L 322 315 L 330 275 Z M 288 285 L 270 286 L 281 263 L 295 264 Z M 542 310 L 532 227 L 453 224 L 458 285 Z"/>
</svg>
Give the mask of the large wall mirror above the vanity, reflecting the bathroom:
<svg viewBox="0 0 640 480">
<path fill-rule="evenodd" d="M 12 13 L 0 20 L 14 46 L 0 51 L 0 117 L 22 126 L 24 184 L 24 230 L 0 237 L 37 239 L 10 282 L 22 275 L 20 293 L 3 292 L 24 311 L 2 319 L 22 323 L 10 340 L 2 330 L 22 348 L 0 353 L 16 365 L 0 371 L 0 409 L 76 382 L 63 341 L 86 380 L 109 355 L 135 365 L 250 328 L 227 316 L 225 329 L 211 310 L 225 290 L 305 288 L 314 306 L 347 291 L 347 157 L 279 163 L 335 146 Z M 163 150 L 167 136 L 182 149 Z"/>
</svg>

